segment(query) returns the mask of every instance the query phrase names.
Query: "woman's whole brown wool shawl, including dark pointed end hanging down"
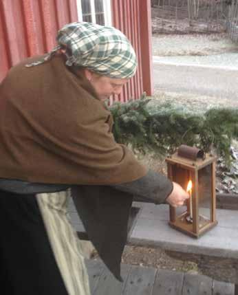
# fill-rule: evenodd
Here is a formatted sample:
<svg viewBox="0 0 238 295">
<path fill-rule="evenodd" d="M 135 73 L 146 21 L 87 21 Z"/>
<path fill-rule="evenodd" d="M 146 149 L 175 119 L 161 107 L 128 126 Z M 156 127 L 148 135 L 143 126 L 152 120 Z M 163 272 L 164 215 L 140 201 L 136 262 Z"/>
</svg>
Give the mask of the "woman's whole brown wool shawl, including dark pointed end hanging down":
<svg viewBox="0 0 238 295">
<path fill-rule="evenodd" d="M 84 76 L 61 56 L 12 67 L 0 85 L 0 178 L 69 184 L 89 239 L 122 281 L 133 196 L 109 186 L 147 174 L 111 133 L 112 116 Z"/>
</svg>

